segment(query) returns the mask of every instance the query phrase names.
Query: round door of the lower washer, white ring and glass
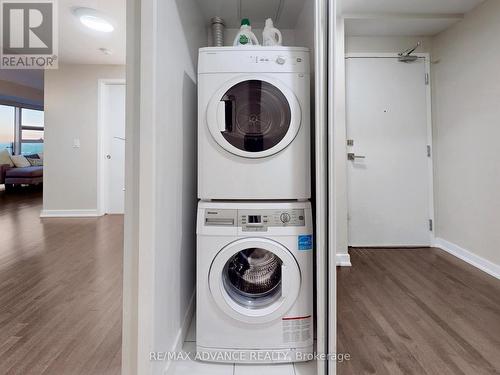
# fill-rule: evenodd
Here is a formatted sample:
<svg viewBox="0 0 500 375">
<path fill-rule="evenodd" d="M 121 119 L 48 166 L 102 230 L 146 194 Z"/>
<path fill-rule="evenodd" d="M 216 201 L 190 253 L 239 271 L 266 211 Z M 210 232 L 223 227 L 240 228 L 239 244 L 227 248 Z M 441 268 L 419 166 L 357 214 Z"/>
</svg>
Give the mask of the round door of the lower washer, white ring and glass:
<svg viewBox="0 0 500 375">
<path fill-rule="evenodd" d="M 281 244 L 246 238 L 224 247 L 212 261 L 209 287 L 215 303 L 245 323 L 279 319 L 297 300 L 301 274 Z"/>
</svg>

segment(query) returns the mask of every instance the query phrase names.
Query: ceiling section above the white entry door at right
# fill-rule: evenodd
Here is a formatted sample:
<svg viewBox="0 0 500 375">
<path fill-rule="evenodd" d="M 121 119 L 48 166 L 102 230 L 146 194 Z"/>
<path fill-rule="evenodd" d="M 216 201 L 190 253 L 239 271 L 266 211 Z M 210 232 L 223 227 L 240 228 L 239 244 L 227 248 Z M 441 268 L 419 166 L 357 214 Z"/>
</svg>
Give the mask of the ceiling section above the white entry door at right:
<svg viewBox="0 0 500 375">
<path fill-rule="evenodd" d="M 485 0 L 342 0 L 348 36 L 433 36 Z"/>
</svg>

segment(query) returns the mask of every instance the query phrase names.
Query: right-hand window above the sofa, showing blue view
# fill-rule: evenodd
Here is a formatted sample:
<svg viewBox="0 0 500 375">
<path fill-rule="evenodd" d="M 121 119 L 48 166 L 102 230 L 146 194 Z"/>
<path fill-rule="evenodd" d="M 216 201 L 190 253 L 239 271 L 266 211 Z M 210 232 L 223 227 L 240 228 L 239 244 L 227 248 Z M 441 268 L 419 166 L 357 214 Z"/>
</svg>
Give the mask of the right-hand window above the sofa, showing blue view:
<svg viewBox="0 0 500 375">
<path fill-rule="evenodd" d="M 44 117 L 43 111 L 21 109 L 21 153 L 39 154 L 43 152 Z"/>
</svg>

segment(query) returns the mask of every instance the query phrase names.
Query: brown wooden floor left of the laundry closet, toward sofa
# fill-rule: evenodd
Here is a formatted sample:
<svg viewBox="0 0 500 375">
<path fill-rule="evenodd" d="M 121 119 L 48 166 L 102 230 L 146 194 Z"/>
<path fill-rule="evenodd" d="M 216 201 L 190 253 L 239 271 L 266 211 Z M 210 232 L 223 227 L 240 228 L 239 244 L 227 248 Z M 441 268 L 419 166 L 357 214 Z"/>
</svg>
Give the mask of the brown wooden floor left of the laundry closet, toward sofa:
<svg viewBox="0 0 500 375">
<path fill-rule="evenodd" d="M 0 374 L 120 374 L 122 216 L 40 219 L 41 199 L 0 191 Z"/>
</svg>

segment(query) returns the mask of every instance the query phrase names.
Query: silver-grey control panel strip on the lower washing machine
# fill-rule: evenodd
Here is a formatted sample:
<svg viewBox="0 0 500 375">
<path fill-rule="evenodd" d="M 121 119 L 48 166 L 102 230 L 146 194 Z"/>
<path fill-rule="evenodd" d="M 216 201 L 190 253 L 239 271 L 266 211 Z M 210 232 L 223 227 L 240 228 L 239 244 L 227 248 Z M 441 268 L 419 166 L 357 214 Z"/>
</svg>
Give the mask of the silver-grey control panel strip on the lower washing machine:
<svg viewBox="0 0 500 375">
<path fill-rule="evenodd" d="M 205 225 L 239 226 L 244 232 L 265 232 L 268 227 L 303 227 L 306 220 L 304 209 L 211 209 L 205 211 Z"/>
</svg>

